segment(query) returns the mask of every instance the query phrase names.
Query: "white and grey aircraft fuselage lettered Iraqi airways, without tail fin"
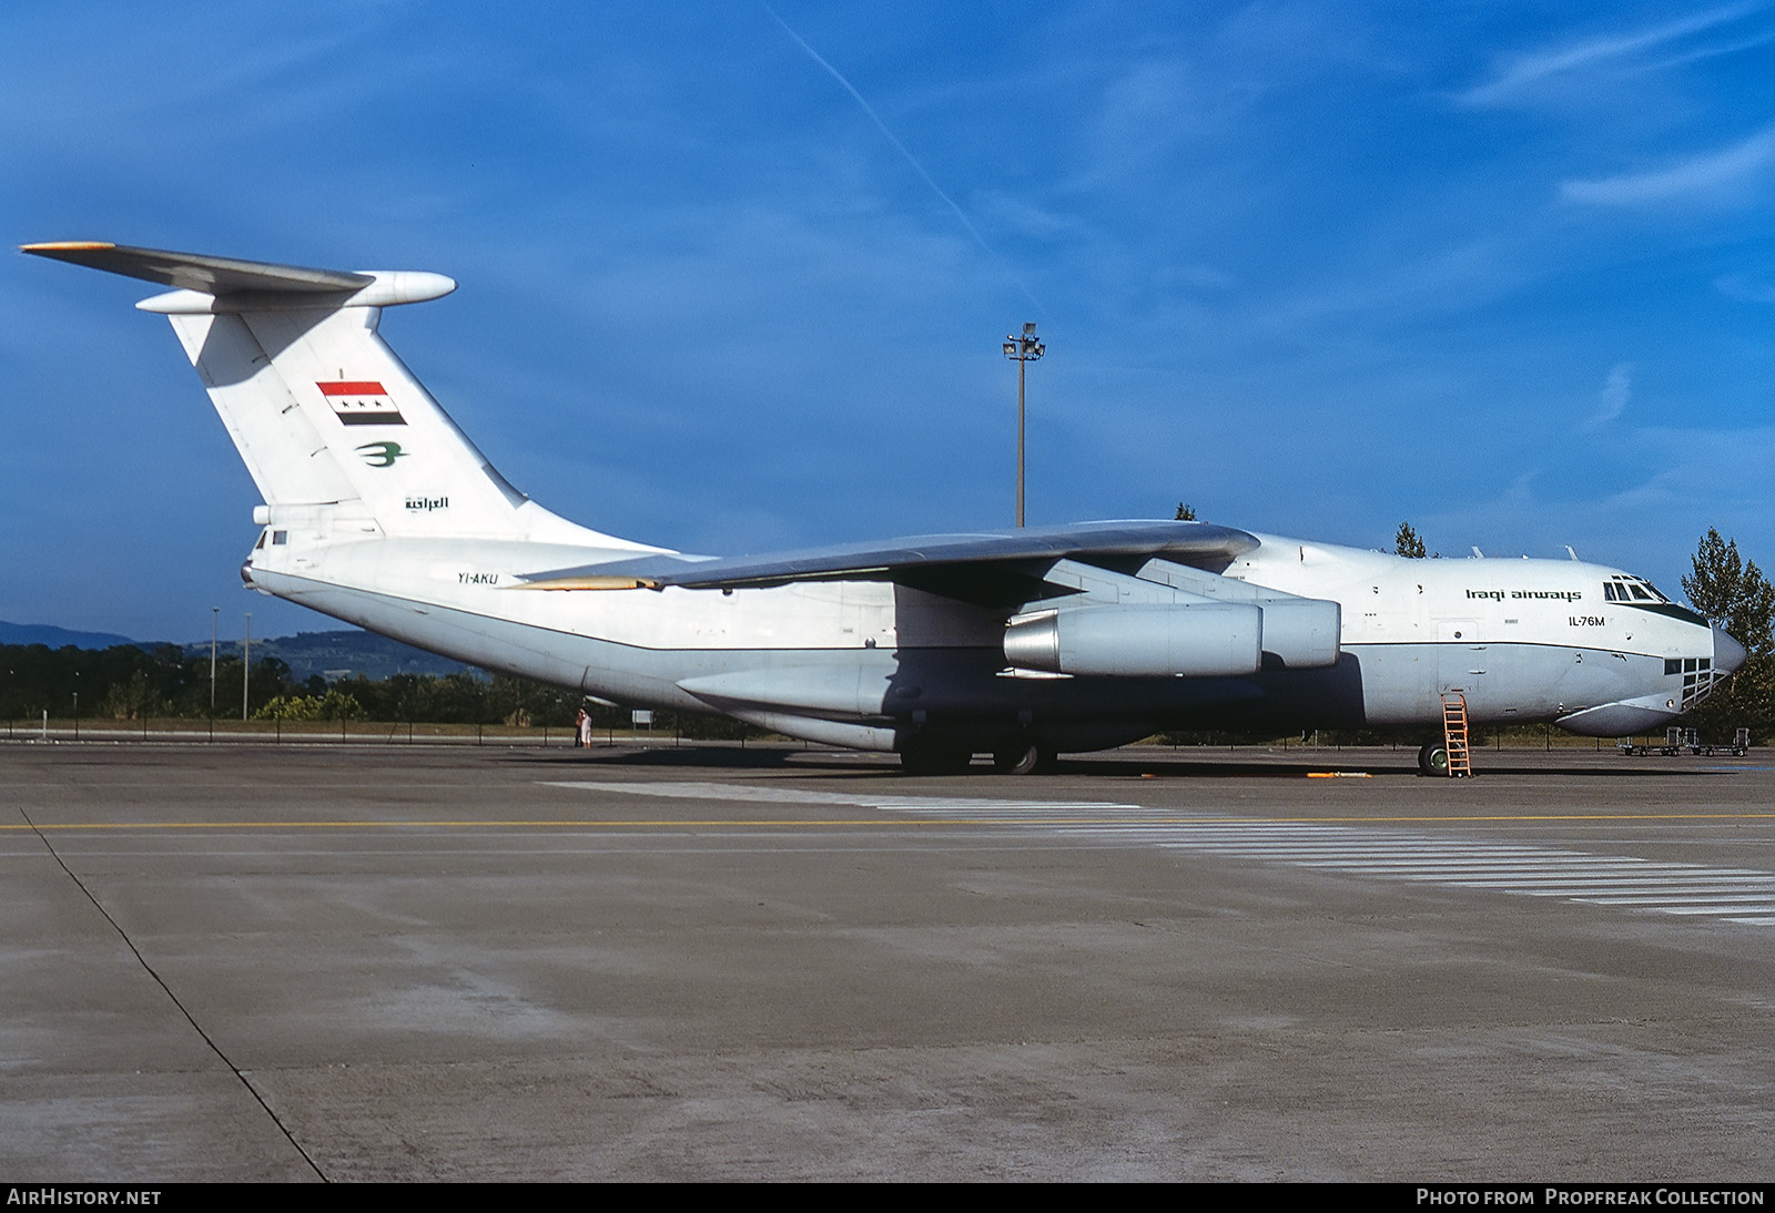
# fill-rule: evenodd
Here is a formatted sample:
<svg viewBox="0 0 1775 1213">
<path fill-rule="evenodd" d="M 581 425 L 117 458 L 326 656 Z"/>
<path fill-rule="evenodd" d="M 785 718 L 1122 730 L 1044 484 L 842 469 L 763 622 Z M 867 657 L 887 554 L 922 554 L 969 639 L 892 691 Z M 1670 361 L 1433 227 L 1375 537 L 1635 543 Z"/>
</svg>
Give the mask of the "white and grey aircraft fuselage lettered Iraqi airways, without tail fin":
<svg viewBox="0 0 1775 1213">
<path fill-rule="evenodd" d="M 987 606 L 884 580 L 575 592 L 525 583 L 525 569 L 630 555 L 572 544 L 289 530 L 254 552 L 247 575 L 261 591 L 463 661 L 611 702 L 717 709 L 873 748 L 928 729 L 980 748 L 1017 734 L 1074 750 L 1182 727 L 1440 725 L 1452 692 L 1475 722 L 1557 720 L 1615 736 L 1661 725 L 1711 686 L 1716 633 L 1681 606 L 1610 601 L 1605 585 L 1644 585 L 1619 569 L 1258 539 L 1219 576 L 1338 603 L 1329 665 L 1242 677 L 1017 670 L 1005 656 L 1006 621 L 1042 603 Z M 1090 566 L 1077 576 L 1085 585 L 1069 605 L 1164 594 L 1147 576 Z"/>
</svg>

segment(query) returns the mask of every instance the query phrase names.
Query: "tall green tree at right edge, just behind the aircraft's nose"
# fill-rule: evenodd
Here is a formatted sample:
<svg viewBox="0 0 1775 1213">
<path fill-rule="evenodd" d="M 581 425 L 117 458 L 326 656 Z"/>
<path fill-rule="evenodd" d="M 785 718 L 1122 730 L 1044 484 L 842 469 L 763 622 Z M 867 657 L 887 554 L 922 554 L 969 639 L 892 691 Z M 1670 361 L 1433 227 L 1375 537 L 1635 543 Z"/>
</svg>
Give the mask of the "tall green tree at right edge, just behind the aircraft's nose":
<svg viewBox="0 0 1775 1213">
<path fill-rule="evenodd" d="M 1727 741 L 1732 729 L 1747 727 L 1757 740 L 1775 732 L 1775 585 L 1755 560 L 1738 555 L 1736 539 L 1722 539 L 1709 527 L 1695 548 L 1695 571 L 1683 578 L 1688 605 L 1724 628 L 1750 651 L 1750 660 L 1716 688 L 1684 724 L 1704 740 Z"/>
</svg>

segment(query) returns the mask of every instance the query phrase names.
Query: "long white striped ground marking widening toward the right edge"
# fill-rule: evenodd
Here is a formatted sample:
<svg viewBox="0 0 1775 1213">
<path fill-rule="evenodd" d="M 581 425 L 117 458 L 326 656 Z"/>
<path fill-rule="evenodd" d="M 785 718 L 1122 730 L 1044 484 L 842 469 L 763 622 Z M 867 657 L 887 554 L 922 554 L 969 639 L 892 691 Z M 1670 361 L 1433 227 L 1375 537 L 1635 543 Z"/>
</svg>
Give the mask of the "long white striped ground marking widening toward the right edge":
<svg viewBox="0 0 1775 1213">
<path fill-rule="evenodd" d="M 921 819 L 1006 826 L 1097 844 L 1141 844 L 1257 864 L 1287 864 L 1367 880 L 1557 897 L 1633 913 L 1715 917 L 1775 926 L 1775 873 L 1631 855 L 1589 855 L 1530 842 L 1482 842 L 1395 828 L 1306 821 L 1239 821 L 1099 800 L 882 796 L 742 784 L 561 782 L 616 794 L 856 805 Z"/>
</svg>

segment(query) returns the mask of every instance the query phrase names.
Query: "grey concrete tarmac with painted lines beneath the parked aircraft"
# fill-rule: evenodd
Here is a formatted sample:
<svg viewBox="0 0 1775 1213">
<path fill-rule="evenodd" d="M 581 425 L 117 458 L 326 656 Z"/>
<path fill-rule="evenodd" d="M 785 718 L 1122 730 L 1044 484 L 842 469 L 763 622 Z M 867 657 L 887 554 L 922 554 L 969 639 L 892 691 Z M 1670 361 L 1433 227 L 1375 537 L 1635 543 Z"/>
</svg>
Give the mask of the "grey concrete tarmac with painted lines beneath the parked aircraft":
<svg viewBox="0 0 1775 1213">
<path fill-rule="evenodd" d="M 0 1174 L 1766 1181 L 1775 768 L 1477 764 L 0 745 Z"/>
</svg>

